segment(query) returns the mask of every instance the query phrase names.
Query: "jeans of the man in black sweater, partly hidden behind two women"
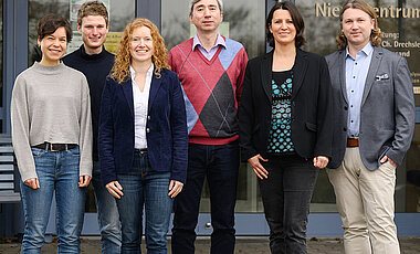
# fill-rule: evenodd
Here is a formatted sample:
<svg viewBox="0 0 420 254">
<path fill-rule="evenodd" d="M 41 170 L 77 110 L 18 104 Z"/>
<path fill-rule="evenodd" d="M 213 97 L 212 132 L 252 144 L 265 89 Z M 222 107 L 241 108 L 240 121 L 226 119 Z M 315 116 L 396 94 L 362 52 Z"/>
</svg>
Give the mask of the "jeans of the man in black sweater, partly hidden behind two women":
<svg viewBox="0 0 420 254">
<path fill-rule="evenodd" d="M 102 184 L 99 161 L 93 162 L 92 184 L 95 192 L 102 254 L 119 254 L 122 235 L 118 208 L 114 197 Z"/>
</svg>

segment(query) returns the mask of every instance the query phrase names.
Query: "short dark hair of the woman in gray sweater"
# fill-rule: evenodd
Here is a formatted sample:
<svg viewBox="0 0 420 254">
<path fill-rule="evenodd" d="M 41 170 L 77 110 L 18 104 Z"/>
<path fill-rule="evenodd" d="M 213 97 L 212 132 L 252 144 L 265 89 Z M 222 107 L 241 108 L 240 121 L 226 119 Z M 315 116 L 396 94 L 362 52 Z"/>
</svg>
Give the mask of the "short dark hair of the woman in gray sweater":
<svg viewBox="0 0 420 254">
<path fill-rule="evenodd" d="M 46 14 L 40 19 L 36 27 L 38 39 L 42 41 L 44 36 L 53 34 L 59 28 L 65 29 L 67 43 L 72 41 L 72 27 L 66 19 L 57 14 Z"/>
</svg>

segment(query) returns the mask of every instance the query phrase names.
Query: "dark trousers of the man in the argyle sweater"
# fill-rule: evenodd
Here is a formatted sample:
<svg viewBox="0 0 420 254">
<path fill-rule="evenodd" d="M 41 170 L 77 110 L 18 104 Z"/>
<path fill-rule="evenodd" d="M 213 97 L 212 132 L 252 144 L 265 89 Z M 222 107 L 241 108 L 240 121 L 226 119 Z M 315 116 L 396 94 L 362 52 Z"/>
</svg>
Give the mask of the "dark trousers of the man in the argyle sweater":
<svg viewBox="0 0 420 254">
<path fill-rule="evenodd" d="M 174 254 L 195 253 L 195 230 L 204 177 L 210 188 L 213 227 L 210 253 L 233 253 L 238 171 L 238 141 L 219 146 L 189 144 L 187 182 L 174 204 Z"/>
</svg>

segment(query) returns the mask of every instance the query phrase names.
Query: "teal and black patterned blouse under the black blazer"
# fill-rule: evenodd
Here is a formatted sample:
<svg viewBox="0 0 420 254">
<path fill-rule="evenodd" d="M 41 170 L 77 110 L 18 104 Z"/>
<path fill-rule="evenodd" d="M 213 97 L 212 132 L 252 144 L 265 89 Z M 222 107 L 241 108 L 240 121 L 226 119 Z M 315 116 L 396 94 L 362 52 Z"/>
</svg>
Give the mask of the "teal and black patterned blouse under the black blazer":
<svg viewBox="0 0 420 254">
<path fill-rule="evenodd" d="M 271 87 L 273 91 L 269 154 L 294 152 L 291 128 L 291 98 L 293 71 L 273 72 Z"/>
</svg>

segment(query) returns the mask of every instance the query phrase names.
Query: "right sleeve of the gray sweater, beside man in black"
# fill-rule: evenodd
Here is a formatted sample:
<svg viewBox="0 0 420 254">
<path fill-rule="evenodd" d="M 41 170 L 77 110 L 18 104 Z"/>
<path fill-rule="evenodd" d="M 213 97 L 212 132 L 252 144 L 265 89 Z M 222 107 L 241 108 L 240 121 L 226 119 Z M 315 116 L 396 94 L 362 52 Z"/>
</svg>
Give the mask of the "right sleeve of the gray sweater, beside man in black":
<svg viewBox="0 0 420 254">
<path fill-rule="evenodd" d="M 91 117 L 91 97 L 88 85 L 85 76 L 81 80 L 81 115 L 80 115 L 80 137 L 78 147 L 81 149 L 80 176 L 92 177 L 92 117 Z"/>
</svg>

